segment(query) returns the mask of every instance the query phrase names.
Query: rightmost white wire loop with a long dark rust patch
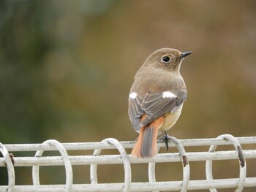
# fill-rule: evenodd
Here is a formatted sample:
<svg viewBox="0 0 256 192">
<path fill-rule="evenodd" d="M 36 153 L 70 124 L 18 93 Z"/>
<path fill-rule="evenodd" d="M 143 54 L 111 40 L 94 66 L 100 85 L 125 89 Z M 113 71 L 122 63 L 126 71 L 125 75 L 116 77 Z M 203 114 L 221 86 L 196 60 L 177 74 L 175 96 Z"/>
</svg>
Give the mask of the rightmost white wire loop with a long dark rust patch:
<svg viewBox="0 0 256 192">
<path fill-rule="evenodd" d="M 236 191 L 235 192 L 241 192 L 241 191 L 243 191 L 244 182 L 245 182 L 245 179 L 246 179 L 246 161 L 245 161 L 245 158 L 244 158 L 244 155 L 243 155 L 242 147 L 241 147 L 240 143 L 238 142 L 238 140 L 230 134 L 222 134 L 219 137 L 217 137 L 217 139 L 224 139 L 224 140 L 230 141 L 236 149 L 236 152 L 237 152 L 237 155 L 238 155 L 238 160 L 239 160 L 239 163 L 240 163 L 239 164 L 240 169 L 239 169 L 239 180 L 238 180 L 238 184 L 236 186 Z M 211 145 L 208 152 L 215 152 L 216 148 L 217 148 L 217 145 Z M 213 180 L 212 160 L 207 160 L 206 161 L 206 180 Z M 217 192 L 216 188 L 211 188 L 209 190 L 211 192 Z"/>
</svg>

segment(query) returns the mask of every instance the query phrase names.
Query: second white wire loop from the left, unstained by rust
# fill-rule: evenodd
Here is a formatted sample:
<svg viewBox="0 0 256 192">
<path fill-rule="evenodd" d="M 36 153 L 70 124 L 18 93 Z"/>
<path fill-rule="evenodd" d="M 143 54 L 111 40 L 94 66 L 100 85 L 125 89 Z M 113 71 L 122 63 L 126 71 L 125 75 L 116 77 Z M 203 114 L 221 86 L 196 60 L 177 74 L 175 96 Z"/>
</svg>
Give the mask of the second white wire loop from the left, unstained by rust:
<svg viewBox="0 0 256 192">
<path fill-rule="evenodd" d="M 67 154 L 67 150 L 61 145 L 60 142 L 50 139 L 42 144 L 48 144 L 48 145 L 53 145 L 54 147 L 59 150 L 59 153 L 61 153 L 61 157 L 64 161 L 64 166 L 65 166 L 65 171 L 66 171 L 66 186 L 65 186 L 65 191 L 72 191 L 72 184 L 73 184 L 73 172 L 72 172 L 72 165 L 69 160 L 69 155 Z M 43 150 L 37 150 L 37 153 L 35 154 L 35 157 L 41 157 Z M 39 182 L 39 166 L 33 166 L 32 168 L 32 177 L 33 177 L 33 185 L 40 185 Z"/>
</svg>

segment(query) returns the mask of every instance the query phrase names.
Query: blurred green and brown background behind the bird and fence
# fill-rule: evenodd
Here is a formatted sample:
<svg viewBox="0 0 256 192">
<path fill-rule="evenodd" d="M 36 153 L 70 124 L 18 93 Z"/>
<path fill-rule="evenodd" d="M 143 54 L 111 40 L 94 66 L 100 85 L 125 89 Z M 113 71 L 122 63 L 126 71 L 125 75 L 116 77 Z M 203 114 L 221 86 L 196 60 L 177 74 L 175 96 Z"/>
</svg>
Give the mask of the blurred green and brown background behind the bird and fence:
<svg viewBox="0 0 256 192">
<path fill-rule="evenodd" d="M 168 134 L 255 136 L 255 7 L 236 0 L 1 0 L 0 142 L 134 140 L 129 88 L 143 61 L 162 47 L 193 52 L 181 66 L 188 98 Z M 135 165 L 145 172 L 132 180 L 147 181 L 146 166 Z M 157 180 L 180 180 L 180 166 L 157 165 Z M 100 167 L 99 182 L 123 181 L 122 165 Z M 192 167 L 192 179 L 205 177 L 204 164 Z M 42 172 L 45 183 L 64 183 L 60 169 Z M 74 183 L 89 183 L 87 169 L 78 169 Z M 238 177 L 236 169 L 237 160 L 220 164 L 214 177 Z M 251 166 L 247 175 L 255 172 Z M 31 183 L 30 169 L 17 174 L 16 183 Z"/>
</svg>

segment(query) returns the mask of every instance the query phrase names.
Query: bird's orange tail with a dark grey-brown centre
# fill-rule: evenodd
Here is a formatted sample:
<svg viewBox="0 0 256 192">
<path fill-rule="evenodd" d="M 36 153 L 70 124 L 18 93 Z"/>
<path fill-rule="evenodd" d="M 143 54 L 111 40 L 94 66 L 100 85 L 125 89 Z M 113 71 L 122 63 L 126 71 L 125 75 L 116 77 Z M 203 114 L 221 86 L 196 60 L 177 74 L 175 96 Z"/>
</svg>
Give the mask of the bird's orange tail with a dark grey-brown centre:
<svg viewBox="0 0 256 192">
<path fill-rule="evenodd" d="M 158 118 L 147 126 L 140 128 L 140 134 L 132 150 L 132 156 L 143 158 L 157 155 L 157 132 L 164 118 Z"/>
</svg>

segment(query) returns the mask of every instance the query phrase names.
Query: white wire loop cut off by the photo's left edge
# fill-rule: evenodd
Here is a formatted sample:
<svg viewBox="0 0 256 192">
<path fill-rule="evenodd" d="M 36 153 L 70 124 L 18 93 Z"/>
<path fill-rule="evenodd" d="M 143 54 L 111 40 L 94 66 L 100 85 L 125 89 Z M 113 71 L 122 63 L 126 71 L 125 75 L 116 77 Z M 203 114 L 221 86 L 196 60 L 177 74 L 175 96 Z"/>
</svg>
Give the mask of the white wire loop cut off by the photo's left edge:
<svg viewBox="0 0 256 192">
<path fill-rule="evenodd" d="M 4 161 L 7 166 L 7 172 L 8 172 L 8 192 L 12 192 L 15 190 L 15 171 L 13 167 L 13 162 L 10 157 L 10 153 L 8 153 L 8 150 L 4 145 L 0 142 L 0 152 L 4 156 Z"/>
</svg>

